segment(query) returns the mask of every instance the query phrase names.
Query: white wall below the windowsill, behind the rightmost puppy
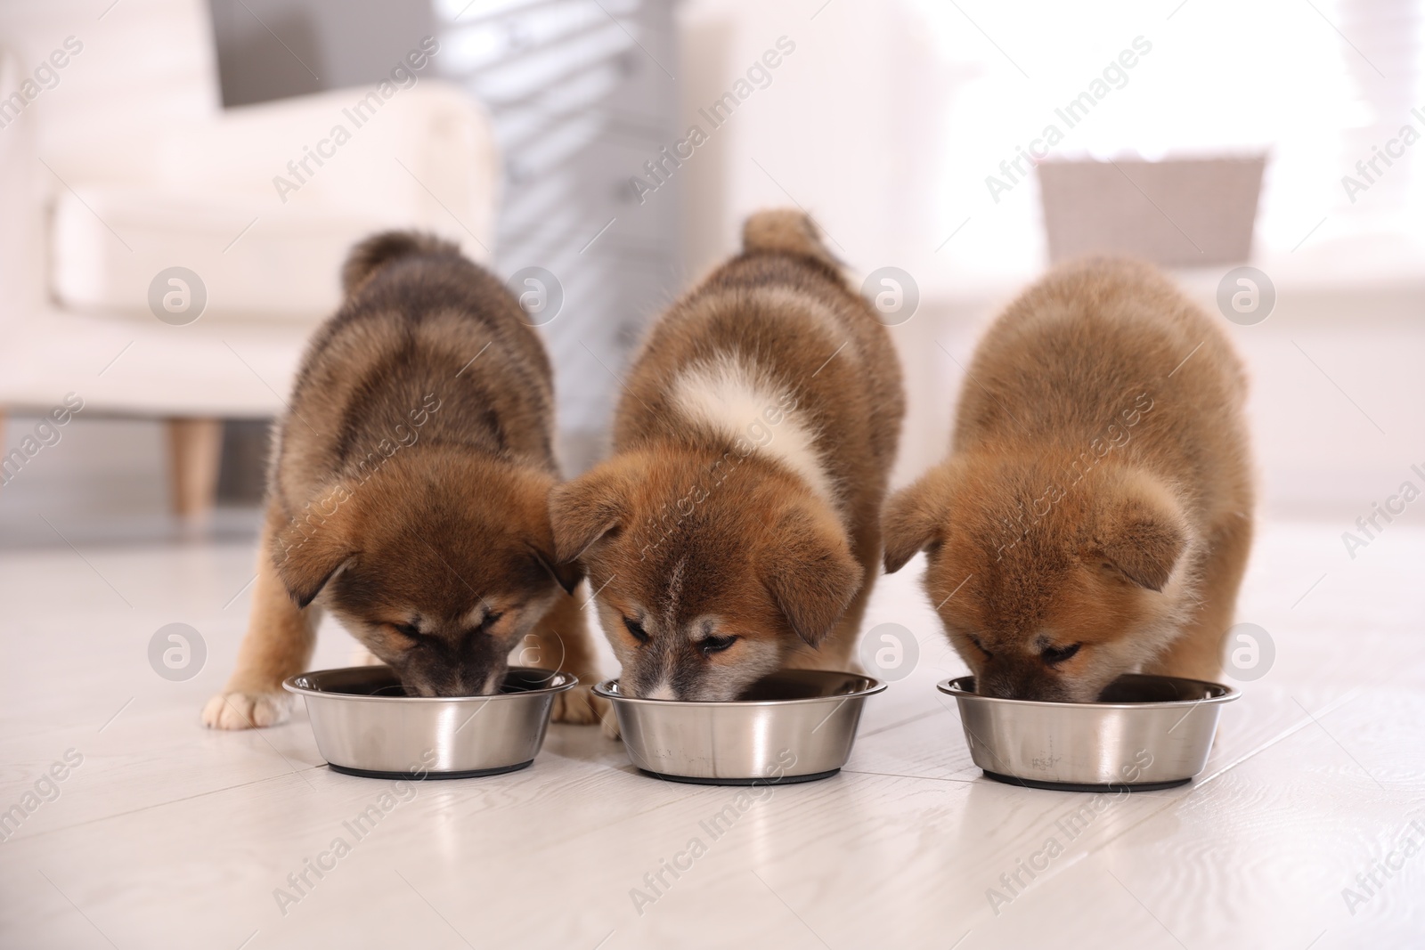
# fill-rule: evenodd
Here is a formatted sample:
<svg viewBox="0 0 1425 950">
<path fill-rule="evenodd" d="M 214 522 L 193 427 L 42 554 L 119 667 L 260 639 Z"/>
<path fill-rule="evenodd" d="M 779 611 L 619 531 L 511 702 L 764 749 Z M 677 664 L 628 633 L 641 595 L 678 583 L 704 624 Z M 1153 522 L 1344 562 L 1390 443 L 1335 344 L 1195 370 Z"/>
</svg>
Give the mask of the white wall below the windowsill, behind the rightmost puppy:
<svg viewBox="0 0 1425 950">
<path fill-rule="evenodd" d="M 962 367 L 1009 296 L 932 301 L 891 329 L 909 402 L 895 484 L 945 456 Z M 1418 308 L 1425 289 L 1406 299 Z M 1402 319 L 1385 309 L 1317 295 L 1280 301 L 1257 326 L 1224 320 L 1251 379 L 1248 424 L 1264 516 L 1341 520 L 1347 530 L 1402 480 L 1422 484 L 1409 466 L 1425 470 L 1425 313 Z"/>
</svg>

